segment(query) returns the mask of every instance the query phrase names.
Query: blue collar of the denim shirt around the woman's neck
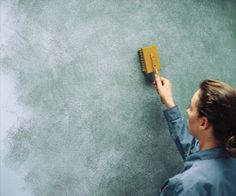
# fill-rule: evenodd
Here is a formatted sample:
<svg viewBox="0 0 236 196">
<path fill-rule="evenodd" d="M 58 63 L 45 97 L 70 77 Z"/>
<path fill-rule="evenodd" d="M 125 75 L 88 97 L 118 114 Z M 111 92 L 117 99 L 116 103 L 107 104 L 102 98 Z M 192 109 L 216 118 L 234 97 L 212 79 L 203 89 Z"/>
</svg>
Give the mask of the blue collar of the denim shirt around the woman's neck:
<svg viewBox="0 0 236 196">
<path fill-rule="evenodd" d="M 229 155 L 222 147 L 215 147 L 207 150 L 197 151 L 186 158 L 186 161 L 207 160 L 228 157 Z"/>
</svg>

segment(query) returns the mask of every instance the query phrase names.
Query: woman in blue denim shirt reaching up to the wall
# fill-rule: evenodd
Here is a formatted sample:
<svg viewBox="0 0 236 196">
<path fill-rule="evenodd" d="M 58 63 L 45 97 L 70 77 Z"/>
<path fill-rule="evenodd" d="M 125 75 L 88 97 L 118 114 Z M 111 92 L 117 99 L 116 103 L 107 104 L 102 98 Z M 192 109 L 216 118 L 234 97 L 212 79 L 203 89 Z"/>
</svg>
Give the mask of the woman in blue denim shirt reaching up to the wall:
<svg viewBox="0 0 236 196">
<path fill-rule="evenodd" d="M 184 159 L 183 171 L 170 178 L 160 195 L 236 195 L 236 89 L 205 80 L 181 117 L 172 97 L 171 82 L 153 82 L 166 106 L 169 131 Z"/>
</svg>

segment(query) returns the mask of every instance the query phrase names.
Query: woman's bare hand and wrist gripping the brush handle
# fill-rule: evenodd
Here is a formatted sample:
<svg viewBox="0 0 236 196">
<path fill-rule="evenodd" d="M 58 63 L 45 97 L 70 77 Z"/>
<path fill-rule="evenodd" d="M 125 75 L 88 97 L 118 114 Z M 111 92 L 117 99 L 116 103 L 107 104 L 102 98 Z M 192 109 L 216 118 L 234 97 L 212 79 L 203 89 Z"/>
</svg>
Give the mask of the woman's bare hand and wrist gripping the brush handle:
<svg viewBox="0 0 236 196">
<path fill-rule="evenodd" d="M 160 96 L 162 103 L 165 104 L 167 108 L 175 106 L 174 99 L 172 96 L 172 85 L 171 81 L 164 77 L 156 77 L 153 82 L 155 89 Z"/>
</svg>

